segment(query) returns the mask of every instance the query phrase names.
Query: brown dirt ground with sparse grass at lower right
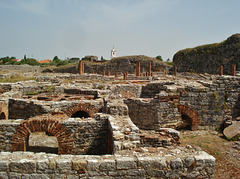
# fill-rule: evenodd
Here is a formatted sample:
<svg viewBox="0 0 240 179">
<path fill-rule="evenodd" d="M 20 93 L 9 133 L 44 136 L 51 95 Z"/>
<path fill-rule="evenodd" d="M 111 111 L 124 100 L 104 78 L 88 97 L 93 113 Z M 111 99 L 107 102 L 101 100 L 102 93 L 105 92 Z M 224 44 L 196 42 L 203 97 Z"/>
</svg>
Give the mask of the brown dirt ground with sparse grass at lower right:
<svg viewBox="0 0 240 179">
<path fill-rule="evenodd" d="M 181 145 L 199 146 L 216 158 L 216 179 L 240 179 L 240 142 L 215 131 L 181 131 Z"/>
</svg>

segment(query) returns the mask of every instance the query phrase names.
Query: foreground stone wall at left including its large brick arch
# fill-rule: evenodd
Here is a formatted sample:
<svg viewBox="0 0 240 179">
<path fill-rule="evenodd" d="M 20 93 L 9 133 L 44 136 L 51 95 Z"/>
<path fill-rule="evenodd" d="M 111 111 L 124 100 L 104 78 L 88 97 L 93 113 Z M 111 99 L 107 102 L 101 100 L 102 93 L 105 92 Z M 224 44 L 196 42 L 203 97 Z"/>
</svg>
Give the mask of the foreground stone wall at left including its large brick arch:
<svg viewBox="0 0 240 179">
<path fill-rule="evenodd" d="M 47 132 L 52 136 L 58 136 L 57 133 L 60 131 L 61 136 L 57 137 L 59 154 L 66 153 L 64 151 L 67 151 L 68 154 L 76 155 L 102 155 L 108 153 L 108 123 L 106 119 L 101 120 L 100 118 L 99 120 L 95 120 L 88 118 L 86 120 L 81 120 L 79 118 L 69 118 L 62 120 L 59 125 L 58 121 L 56 120 L 55 122 L 57 123 L 55 125 L 55 122 L 53 121 L 52 123 L 50 118 L 48 121 L 43 119 L 46 118 L 44 116 L 42 116 L 42 118 L 38 118 L 21 121 L 24 125 L 20 123 L 20 120 L 2 120 L 0 123 L 0 151 L 28 151 L 26 144 L 28 143 L 27 140 L 31 133 Z M 31 124 L 34 125 L 34 128 L 31 127 Z M 49 129 L 44 129 L 44 125 L 50 125 L 53 131 L 54 128 L 58 126 L 56 134 L 55 132 L 50 132 Z M 31 133 L 28 133 L 27 135 L 25 132 L 26 129 L 31 131 Z M 22 133 L 26 133 L 26 136 L 24 135 L 25 140 L 21 146 L 19 146 Z M 68 134 L 70 134 L 69 137 L 67 137 Z M 17 141 L 15 141 L 15 139 L 17 139 Z M 41 140 L 41 138 L 39 140 Z M 71 142 L 73 143 L 71 144 Z M 69 147 L 68 149 L 63 149 L 62 147 L 64 146 Z"/>
</svg>

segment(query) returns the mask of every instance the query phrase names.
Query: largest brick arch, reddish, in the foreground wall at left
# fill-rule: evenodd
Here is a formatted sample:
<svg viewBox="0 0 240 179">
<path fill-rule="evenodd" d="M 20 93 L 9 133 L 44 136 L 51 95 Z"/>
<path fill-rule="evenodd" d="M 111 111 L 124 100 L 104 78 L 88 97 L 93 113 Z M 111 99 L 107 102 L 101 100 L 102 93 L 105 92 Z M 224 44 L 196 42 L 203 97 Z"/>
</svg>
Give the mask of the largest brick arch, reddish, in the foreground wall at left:
<svg viewBox="0 0 240 179">
<path fill-rule="evenodd" d="M 33 132 L 47 132 L 58 140 L 58 154 L 70 154 L 74 139 L 71 132 L 54 118 L 32 118 L 23 121 L 16 129 L 11 140 L 11 151 L 26 151 L 29 135 Z"/>
</svg>

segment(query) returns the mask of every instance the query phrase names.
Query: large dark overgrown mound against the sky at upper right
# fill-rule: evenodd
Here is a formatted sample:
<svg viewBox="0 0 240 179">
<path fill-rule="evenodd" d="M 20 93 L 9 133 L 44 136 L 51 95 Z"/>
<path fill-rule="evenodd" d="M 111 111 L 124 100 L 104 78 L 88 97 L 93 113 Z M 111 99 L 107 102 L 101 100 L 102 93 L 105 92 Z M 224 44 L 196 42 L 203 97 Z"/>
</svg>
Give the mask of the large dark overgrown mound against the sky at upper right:
<svg viewBox="0 0 240 179">
<path fill-rule="evenodd" d="M 218 74 L 220 65 L 224 73 L 231 74 L 232 64 L 240 70 L 240 34 L 234 34 L 221 43 L 180 50 L 173 57 L 178 71 Z"/>
</svg>

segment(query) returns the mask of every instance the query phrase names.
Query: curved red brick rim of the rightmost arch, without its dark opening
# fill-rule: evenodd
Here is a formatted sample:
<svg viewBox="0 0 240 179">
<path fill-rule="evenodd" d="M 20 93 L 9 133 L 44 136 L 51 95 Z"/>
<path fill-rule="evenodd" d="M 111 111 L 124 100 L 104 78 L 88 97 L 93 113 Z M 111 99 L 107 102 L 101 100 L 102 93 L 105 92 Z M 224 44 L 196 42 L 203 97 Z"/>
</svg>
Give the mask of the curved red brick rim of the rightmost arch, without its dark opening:
<svg viewBox="0 0 240 179">
<path fill-rule="evenodd" d="M 188 116 L 188 118 L 191 120 L 191 129 L 196 130 L 197 126 L 201 124 L 201 119 L 198 116 L 198 113 L 196 110 L 191 109 L 190 107 L 186 105 L 179 105 L 178 110 L 181 114 Z"/>
</svg>

